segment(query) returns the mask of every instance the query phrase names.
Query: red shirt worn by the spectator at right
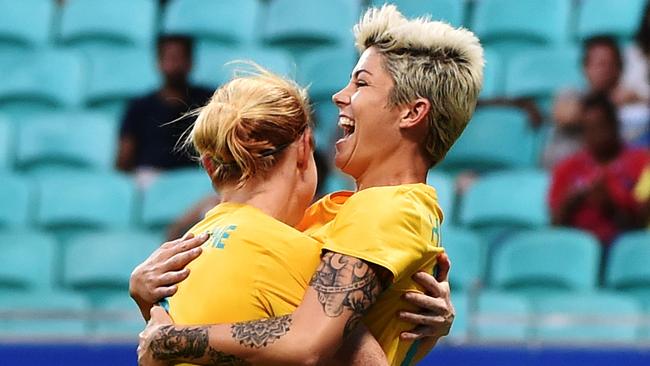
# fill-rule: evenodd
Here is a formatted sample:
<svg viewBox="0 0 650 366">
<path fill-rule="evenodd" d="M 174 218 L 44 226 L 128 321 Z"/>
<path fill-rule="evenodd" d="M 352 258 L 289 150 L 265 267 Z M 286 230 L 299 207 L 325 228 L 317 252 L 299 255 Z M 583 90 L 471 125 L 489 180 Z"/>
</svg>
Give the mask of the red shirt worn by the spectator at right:
<svg viewBox="0 0 650 366">
<path fill-rule="evenodd" d="M 549 195 L 551 210 L 558 212 L 575 192 L 588 189 L 602 179 L 613 204 L 634 214 L 640 210 L 633 196 L 634 185 L 649 163 L 650 152 L 646 149 L 626 148 L 606 165 L 598 163 L 587 151 L 578 152 L 554 169 Z M 618 227 L 611 212 L 589 196 L 576 208 L 568 224 L 592 232 L 603 243 L 611 243 L 623 229 Z"/>
</svg>

